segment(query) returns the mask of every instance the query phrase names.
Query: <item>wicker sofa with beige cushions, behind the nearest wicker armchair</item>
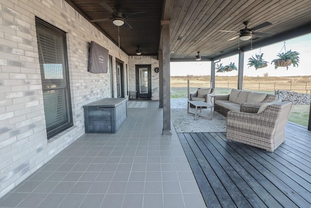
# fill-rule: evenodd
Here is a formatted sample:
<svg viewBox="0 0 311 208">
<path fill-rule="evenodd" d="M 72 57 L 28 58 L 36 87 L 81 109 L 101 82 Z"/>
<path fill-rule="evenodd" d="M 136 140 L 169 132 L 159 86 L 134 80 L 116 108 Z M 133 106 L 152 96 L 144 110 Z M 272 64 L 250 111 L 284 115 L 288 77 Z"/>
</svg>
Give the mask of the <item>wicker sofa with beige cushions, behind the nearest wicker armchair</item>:
<svg viewBox="0 0 311 208">
<path fill-rule="evenodd" d="M 232 89 L 229 95 L 214 97 L 214 111 L 227 116 L 228 111 L 257 113 L 262 103 L 270 103 L 276 95 Z"/>
</svg>

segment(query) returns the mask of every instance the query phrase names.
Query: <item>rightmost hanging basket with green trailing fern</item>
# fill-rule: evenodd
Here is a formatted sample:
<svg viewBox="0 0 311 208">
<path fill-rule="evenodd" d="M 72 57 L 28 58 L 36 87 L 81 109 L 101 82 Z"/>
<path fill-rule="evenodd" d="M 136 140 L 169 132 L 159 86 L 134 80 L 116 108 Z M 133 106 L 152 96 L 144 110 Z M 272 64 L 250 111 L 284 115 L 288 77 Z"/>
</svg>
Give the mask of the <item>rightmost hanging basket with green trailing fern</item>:
<svg viewBox="0 0 311 208">
<path fill-rule="evenodd" d="M 294 67 L 297 67 L 299 63 L 298 55 L 300 55 L 298 52 L 289 50 L 285 53 L 277 54 L 278 58 L 273 59 L 271 63 L 274 63 L 275 69 L 277 69 L 277 67 L 286 67 L 286 69 L 288 69 L 292 64 Z"/>
</svg>

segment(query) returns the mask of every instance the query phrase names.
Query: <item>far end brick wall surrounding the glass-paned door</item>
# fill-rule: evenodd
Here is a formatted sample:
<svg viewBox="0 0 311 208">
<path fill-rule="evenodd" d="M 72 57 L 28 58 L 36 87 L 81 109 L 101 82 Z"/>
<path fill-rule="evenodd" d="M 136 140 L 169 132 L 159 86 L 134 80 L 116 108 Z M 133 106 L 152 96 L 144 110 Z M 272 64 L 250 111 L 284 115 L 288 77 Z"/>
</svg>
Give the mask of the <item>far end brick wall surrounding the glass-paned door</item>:
<svg viewBox="0 0 311 208">
<path fill-rule="evenodd" d="M 136 78 L 135 65 L 151 64 L 151 99 L 159 100 L 159 74 L 155 74 L 153 69 L 159 66 L 159 61 L 156 56 L 131 56 L 129 57 L 129 84 L 130 84 L 130 99 L 136 98 Z"/>
</svg>

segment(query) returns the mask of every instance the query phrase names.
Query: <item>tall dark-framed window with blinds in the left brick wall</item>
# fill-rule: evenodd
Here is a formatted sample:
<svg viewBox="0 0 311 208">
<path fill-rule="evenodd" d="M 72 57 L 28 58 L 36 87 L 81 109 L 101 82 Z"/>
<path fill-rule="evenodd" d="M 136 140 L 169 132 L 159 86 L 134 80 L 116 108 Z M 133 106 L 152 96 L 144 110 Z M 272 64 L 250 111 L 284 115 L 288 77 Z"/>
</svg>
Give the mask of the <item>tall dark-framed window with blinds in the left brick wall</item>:
<svg viewBox="0 0 311 208">
<path fill-rule="evenodd" d="M 71 127 L 66 34 L 36 18 L 36 34 L 48 139 Z"/>
</svg>

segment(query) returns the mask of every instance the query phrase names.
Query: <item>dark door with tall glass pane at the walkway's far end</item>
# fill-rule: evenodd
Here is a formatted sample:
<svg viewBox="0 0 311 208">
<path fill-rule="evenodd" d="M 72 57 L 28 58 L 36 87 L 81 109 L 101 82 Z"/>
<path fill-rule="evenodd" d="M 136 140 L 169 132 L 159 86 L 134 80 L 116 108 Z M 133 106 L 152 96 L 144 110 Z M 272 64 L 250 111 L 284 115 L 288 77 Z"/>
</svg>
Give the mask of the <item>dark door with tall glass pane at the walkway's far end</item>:
<svg viewBox="0 0 311 208">
<path fill-rule="evenodd" d="M 137 98 L 151 98 L 151 65 L 136 65 Z"/>
</svg>

